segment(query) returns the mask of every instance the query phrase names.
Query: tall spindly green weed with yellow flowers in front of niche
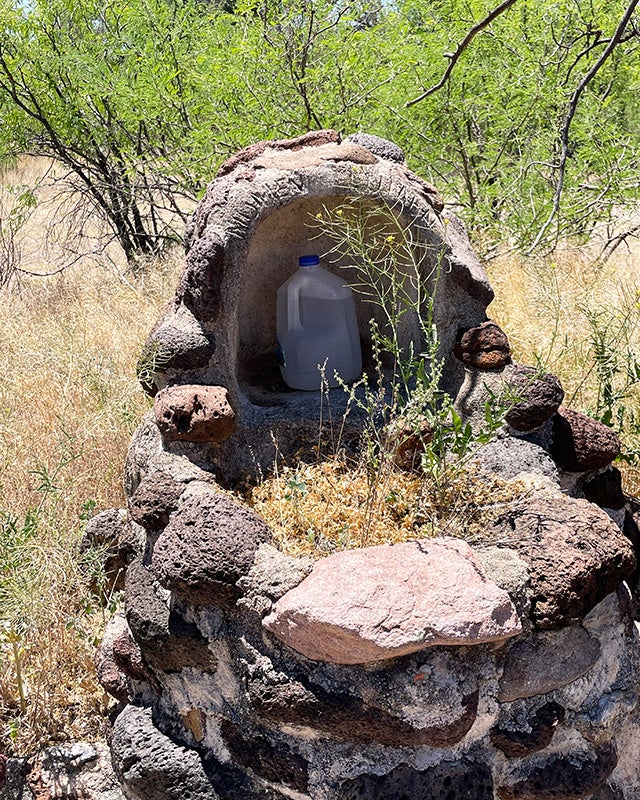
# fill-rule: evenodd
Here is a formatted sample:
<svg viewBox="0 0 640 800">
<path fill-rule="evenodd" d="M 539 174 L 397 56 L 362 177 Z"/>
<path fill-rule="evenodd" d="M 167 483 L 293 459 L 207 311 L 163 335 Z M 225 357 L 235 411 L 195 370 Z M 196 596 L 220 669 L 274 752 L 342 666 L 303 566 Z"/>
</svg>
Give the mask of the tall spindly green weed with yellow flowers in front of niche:
<svg viewBox="0 0 640 800">
<path fill-rule="evenodd" d="M 444 252 L 428 228 L 404 224 L 398 209 L 359 201 L 323 209 L 316 224 L 333 243 L 328 255 L 352 270 L 357 276 L 352 288 L 377 312 L 370 323 L 376 374 L 373 381 L 363 376 L 364 392 L 349 389 L 372 420 L 364 435 L 371 513 L 379 492 L 388 495 L 385 475 L 407 440 L 419 454 L 425 490 L 428 484 L 437 505 L 444 506 L 478 447 L 503 425 L 513 398 L 489 392 L 484 421 L 472 426 L 442 388 L 445 362 L 434 298 Z M 412 324 L 420 333 L 419 352 L 403 337 Z"/>
</svg>

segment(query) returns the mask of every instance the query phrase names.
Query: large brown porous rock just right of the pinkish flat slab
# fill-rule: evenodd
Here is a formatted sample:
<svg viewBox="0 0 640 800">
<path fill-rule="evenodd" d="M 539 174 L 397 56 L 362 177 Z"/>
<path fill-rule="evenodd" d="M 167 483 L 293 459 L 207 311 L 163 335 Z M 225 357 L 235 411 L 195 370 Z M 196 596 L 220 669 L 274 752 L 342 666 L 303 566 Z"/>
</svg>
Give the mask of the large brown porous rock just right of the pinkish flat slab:
<svg viewBox="0 0 640 800">
<path fill-rule="evenodd" d="M 579 622 L 635 567 L 629 540 L 587 500 L 542 497 L 520 503 L 492 526 L 527 564 L 531 618 L 540 628 Z"/>
</svg>

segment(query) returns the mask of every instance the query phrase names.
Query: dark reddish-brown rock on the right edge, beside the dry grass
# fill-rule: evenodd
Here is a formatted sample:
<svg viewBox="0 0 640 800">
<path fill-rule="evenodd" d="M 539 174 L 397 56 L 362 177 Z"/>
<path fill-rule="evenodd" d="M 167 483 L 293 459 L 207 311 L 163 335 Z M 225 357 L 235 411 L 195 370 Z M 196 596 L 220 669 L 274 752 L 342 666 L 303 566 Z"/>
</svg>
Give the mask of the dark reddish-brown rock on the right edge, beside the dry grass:
<svg viewBox="0 0 640 800">
<path fill-rule="evenodd" d="M 620 452 L 620 439 L 611 428 L 570 408 L 554 416 L 552 438 L 551 456 L 567 472 L 602 469 Z"/>
</svg>

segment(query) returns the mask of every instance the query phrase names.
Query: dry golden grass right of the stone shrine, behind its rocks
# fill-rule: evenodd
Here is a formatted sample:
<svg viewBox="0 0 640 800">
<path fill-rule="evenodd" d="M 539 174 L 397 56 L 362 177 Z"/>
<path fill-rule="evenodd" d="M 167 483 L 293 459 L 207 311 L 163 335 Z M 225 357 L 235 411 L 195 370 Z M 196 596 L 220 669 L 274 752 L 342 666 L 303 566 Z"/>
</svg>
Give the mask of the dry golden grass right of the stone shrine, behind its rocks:
<svg viewBox="0 0 640 800">
<path fill-rule="evenodd" d="M 629 373 L 640 363 L 640 243 L 618 248 L 604 263 L 596 253 L 597 243 L 564 245 L 548 259 L 490 262 L 496 299 L 488 313 L 507 333 L 515 360 L 558 376 L 567 406 L 602 416 L 610 382 L 620 395 L 611 424 L 638 459 L 640 375 Z M 637 463 L 620 466 L 626 490 L 640 495 Z"/>
</svg>

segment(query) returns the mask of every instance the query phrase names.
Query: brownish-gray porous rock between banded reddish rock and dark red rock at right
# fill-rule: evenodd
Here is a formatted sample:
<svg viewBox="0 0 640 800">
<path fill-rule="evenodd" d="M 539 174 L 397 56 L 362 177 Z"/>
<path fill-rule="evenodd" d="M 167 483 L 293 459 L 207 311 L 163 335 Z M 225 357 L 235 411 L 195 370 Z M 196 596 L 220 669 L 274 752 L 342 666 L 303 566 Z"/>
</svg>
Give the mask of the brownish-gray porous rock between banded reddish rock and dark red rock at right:
<svg viewBox="0 0 640 800">
<path fill-rule="evenodd" d="M 550 373 L 517 364 L 505 381 L 513 396 L 506 422 L 517 431 L 531 431 L 543 425 L 560 407 L 564 391 Z"/>
</svg>

